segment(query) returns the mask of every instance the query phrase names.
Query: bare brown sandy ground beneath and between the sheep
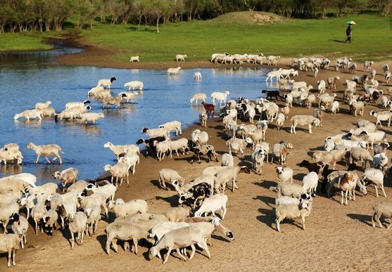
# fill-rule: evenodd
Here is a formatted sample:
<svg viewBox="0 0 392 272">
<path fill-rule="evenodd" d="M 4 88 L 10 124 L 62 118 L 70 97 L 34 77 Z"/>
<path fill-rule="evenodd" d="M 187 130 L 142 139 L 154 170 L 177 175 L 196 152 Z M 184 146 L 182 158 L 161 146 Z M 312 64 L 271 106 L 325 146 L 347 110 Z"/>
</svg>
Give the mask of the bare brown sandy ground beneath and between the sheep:
<svg viewBox="0 0 392 272">
<path fill-rule="evenodd" d="M 379 66 L 377 70 L 381 71 Z M 322 70 L 319 79 L 337 74 L 342 79 L 352 76 L 344 72 Z M 357 75 L 362 75 L 362 71 L 358 71 Z M 382 78 L 381 75 L 377 75 L 380 82 L 384 82 Z M 316 86 L 316 79 L 310 76 L 310 72 L 301 72 L 296 80 L 306 80 Z M 342 82 L 343 80 L 339 82 L 336 91 L 339 101 L 343 96 Z M 278 103 L 280 106 L 283 105 L 282 101 Z M 369 111 L 374 109 L 377 110 L 373 105 L 367 106 L 363 117 L 374 121 L 373 117 L 369 116 Z M 290 116 L 312 112 L 313 108 L 294 106 Z M 356 119 L 353 115 L 348 115 L 348 106 L 341 103 L 341 111 L 336 115 L 328 113 L 324 117 L 323 127 L 313 127 L 313 134 L 308 134 L 307 129 L 302 127 L 297 128 L 296 135 L 290 134 L 290 124 L 286 121 L 281 131 L 277 131 L 274 124 L 271 124 L 266 141 L 270 146 L 282 140 L 293 143 L 295 148 L 288 157 L 287 166 L 294 169 L 294 182 L 300 183 L 307 170 L 298 167 L 297 164 L 303 159 L 309 160 L 310 151 L 320 149 L 327 136 L 353 128 Z M 202 129 L 195 124 L 194 127 L 186 129 L 183 136 L 190 138 L 191 131 L 196 127 Z M 391 141 L 391 129 L 383 127 L 381 130 L 386 131 L 388 141 Z M 222 132 L 220 119 L 209 119 L 206 131 L 210 135 L 210 144 L 215 146 L 218 153 L 227 152 L 227 136 Z M 249 166 L 250 154 L 251 149 L 247 148 L 244 159 L 235 157 L 235 162 Z M 388 156 L 392 156 L 391 150 L 388 150 Z M 160 169 L 176 169 L 187 180 L 191 180 L 200 175 L 205 167 L 219 165 L 217 162 L 205 161 L 201 164 L 189 164 L 189 158 L 190 155 L 185 155 L 174 157 L 172 160 L 165 158 L 163 162 L 158 162 L 152 157 L 141 156 L 141 162 L 129 186 L 122 185 L 116 197 L 122 197 L 124 200 L 144 199 L 148 202 L 150 212 L 165 213 L 170 206 L 176 205 L 177 194 L 174 190 L 158 188 Z M 139 242 L 138 256 L 123 250 L 120 250 L 119 254 L 112 251 L 108 256 L 104 251 L 104 229 L 108 222 L 113 221 L 112 214 L 110 220 L 99 223 L 96 235 L 86 237 L 82 245 L 75 245 L 74 250 L 70 250 L 68 230 L 57 231 L 53 237 L 49 237 L 42 233 L 36 236 L 30 228 L 27 234 L 27 248 L 18 250 L 18 265 L 10 271 L 131 271 L 135 268 L 141 271 L 161 271 L 163 268 L 166 271 L 388 271 L 392 268 L 391 230 L 371 226 L 372 202 L 391 199 L 391 175 L 384 182 L 388 197 L 377 199 L 374 188 L 368 188 L 368 195 L 357 193 L 357 200 L 349 201 L 348 206 L 345 206 L 340 204 L 340 193 L 336 190 L 331 198 L 319 193 L 312 213 L 306 219 L 305 231 L 301 229 L 298 220 L 286 219 L 281 224 L 282 233 L 278 233 L 274 224 L 276 193 L 269 190 L 270 186 L 276 185 L 276 166 L 277 164 L 265 164 L 262 176 L 252 172 L 240 174 L 239 190 L 234 193 L 227 190 L 228 212 L 223 224 L 234 231 L 235 240 L 229 242 L 220 236 L 213 236 L 213 246 L 210 247 L 211 260 L 208 260 L 205 252 L 198 251 L 194 259 L 187 262 L 181 261 L 175 254 L 165 265 L 158 258 L 148 261 L 146 257 L 149 245 L 143 241 Z M 345 166 L 340 164 L 338 169 L 345 169 Z M 0 257 L 2 271 L 6 268 L 6 258 L 4 254 L 0 254 Z"/>
</svg>

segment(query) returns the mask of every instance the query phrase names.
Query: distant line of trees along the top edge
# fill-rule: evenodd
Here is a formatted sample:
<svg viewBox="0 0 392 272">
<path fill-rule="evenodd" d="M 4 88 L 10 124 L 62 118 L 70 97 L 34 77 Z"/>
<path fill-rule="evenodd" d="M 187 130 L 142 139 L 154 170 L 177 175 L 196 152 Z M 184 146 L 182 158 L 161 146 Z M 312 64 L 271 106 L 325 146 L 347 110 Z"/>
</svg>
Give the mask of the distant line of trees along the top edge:
<svg viewBox="0 0 392 272">
<path fill-rule="evenodd" d="M 285 17 L 325 18 L 373 9 L 391 13 L 392 0 L 0 0 L 0 33 L 61 31 L 95 21 L 156 25 L 207 20 L 233 11 L 267 11 Z M 159 32 L 159 30 L 158 30 Z"/>
</svg>

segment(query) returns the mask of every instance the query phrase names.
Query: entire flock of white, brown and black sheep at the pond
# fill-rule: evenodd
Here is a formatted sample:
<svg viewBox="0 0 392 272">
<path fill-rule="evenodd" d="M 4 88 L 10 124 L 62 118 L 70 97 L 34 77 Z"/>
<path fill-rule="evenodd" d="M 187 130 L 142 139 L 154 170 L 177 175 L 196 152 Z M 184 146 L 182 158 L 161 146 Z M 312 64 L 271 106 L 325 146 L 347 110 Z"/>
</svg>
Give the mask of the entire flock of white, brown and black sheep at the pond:
<svg viewBox="0 0 392 272">
<path fill-rule="evenodd" d="M 246 54 L 245 54 L 246 55 Z M 229 55 L 213 54 L 211 61 L 226 63 L 241 63 L 254 60 L 255 63 L 263 63 L 263 54 L 259 55 Z M 186 55 L 185 55 L 186 57 Z M 272 57 L 272 56 L 271 56 Z M 132 57 L 135 58 L 135 57 Z M 132 60 L 131 58 L 131 60 Z M 179 58 L 181 59 L 181 58 Z M 183 60 L 184 58 L 182 58 Z M 269 58 L 270 64 L 277 64 L 279 58 Z M 130 61 L 131 61 L 130 60 Z M 136 60 L 136 59 L 134 59 Z M 132 61 L 134 61 L 132 60 Z M 355 72 L 353 62 L 348 58 L 340 60 L 337 69 L 348 69 Z M 139 56 L 137 58 L 139 61 Z M 177 60 L 178 61 L 178 60 Z M 251 60 L 250 60 L 251 61 Z M 259 61 L 259 62 L 258 62 Z M 277 162 L 279 166 L 277 172 L 277 186 L 270 190 L 277 192 L 276 197 L 276 228 L 280 231 L 280 222 L 286 218 L 301 219 L 303 229 L 305 229 L 305 217 L 310 216 L 312 205 L 316 194 L 317 186 L 321 183 L 322 193 L 330 194 L 333 186 L 341 190 L 341 204 L 348 204 L 348 199 L 355 200 L 355 188 L 363 194 L 367 194 L 367 186 L 373 185 L 377 197 L 378 188 L 381 188 L 384 197 L 384 176 L 387 174 L 388 157 L 386 149 L 389 147 L 384 131 L 377 131 L 377 124 L 381 127 L 381 122 L 388 122 L 388 127 L 392 118 L 392 103 L 386 97 L 386 91 L 379 89 L 379 82 L 375 79 L 376 73 L 372 72 L 372 62 L 365 62 L 365 70 L 371 70 L 370 77 L 362 75 L 353 77 L 347 81 L 347 89 L 341 103 L 348 103 L 350 113 L 353 115 L 363 114 L 366 103 L 375 103 L 381 96 L 381 107 L 379 112 L 370 112 L 375 117 L 376 124 L 365 119 L 358 119 L 357 127 L 350 129 L 348 133 L 336 136 L 329 136 L 324 141 L 324 150 L 315 151 L 312 158 L 315 162 L 303 160 L 300 166 L 308 169 L 309 174 L 303 177 L 302 184 L 293 183 L 293 169 L 286 167 L 286 159 L 290 150 L 294 148 L 292 143 L 279 141 L 273 143 L 270 153 L 270 143 L 265 141 L 267 131 L 273 122 L 276 122 L 277 129 L 282 129 L 284 123 L 290 115 L 293 105 L 307 106 L 315 108 L 313 115 L 293 115 L 290 119 L 291 133 L 296 133 L 296 127 L 308 126 L 309 133 L 312 133 L 312 126 L 322 126 L 322 118 L 328 112 L 335 114 L 339 112 L 339 102 L 336 101 L 336 93 L 329 94 L 328 89 L 336 89 L 338 76 L 331 77 L 317 82 L 317 89 L 313 89 L 306 82 L 295 82 L 290 77 L 298 75 L 298 70 L 311 69 L 313 72 L 319 69 L 327 69 L 329 60 L 326 58 L 301 58 L 293 59 L 291 69 L 279 69 L 268 73 L 268 78 L 277 79 L 279 90 L 263 91 L 267 98 L 258 98 L 250 101 L 241 97 L 238 100 L 229 99 L 229 91 L 214 92 L 210 97 L 213 103 L 207 103 L 206 93 L 195 93 L 190 103 L 201 101 L 205 109 L 199 115 L 201 127 L 206 127 L 209 117 L 215 116 L 215 101 L 220 102 L 220 117 L 225 127 L 223 132 L 227 135 L 227 153 L 221 157 L 220 166 L 210 166 L 203 169 L 200 176 L 195 176 L 192 181 L 186 181 L 178 171 L 174 169 L 160 169 L 160 187 L 167 190 L 169 185 L 178 195 L 178 207 L 172 207 L 165 214 L 149 213 L 148 204 L 145 200 L 130 200 L 125 202 L 121 198 L 115 199 L 115 193 L 120 190 L 122 182 L 129 182 L 129 173 L 134 174 L 139 164 L 140 150 L 137 145 L 146 145 L 146 154 L 156 157 L 159 161 L 165 160 L 165 155 L 171 158 L 173 152 L 177 157 L 179 153 L 186 155 L 191 153 L 189 162 L 201 163 L 204 158 L 206 162 L 210 160 L 219 161 L 219 156 L 213 145 L 208 143 L 209 136 L 206 131 L 195 129 L 191 138 L 177 138 L 172 140 L 171 132 L 175 135 L 182 134 L 182 124 L 178 121 L 167 122 L 158 128 L 143 128 L 142 133 L 148 136 L 147 139 L 140 138 L 137 145 L 113 145 L 105 143 L 104 148 L 109 148 L 117 158 L 116 164 L 107 164 L 104 169 L 110 173 L 110 181 L 87 182 L 77 180 L 79 173 L 75 168 L 68 168 L 63 171 L 53 173 L 55 179 L 61 181 L 61 193 L 58 193 L 56 183 L 45 183 L 36 186 L 36 177 L 32 174 L 18 174 L 0 179 L 0 222 L 4 227 L 4 234 L 0 235 L 0 252 L 8 252 L 8 266 L 15 265 L 15 250 L 21 245 L 24 247 L 27 228 L 30 217 L 34 221 L 34 231 L 39 231 L 53 235 L 58 222 L 61 228 L 68 228 L 71 234 L 70 247 L 74 247 L 75 240 L 78 245 L 82 244 L 84 235 L 94 235 L 96 226 L 101 220 L 101 212 L 104 210 L 108 219 L 108 211 L 115 214 L 115 220 L 106 226 L 106 252 L 110 254 L 111 247 L 118 252 L 117 241 L 125 242 L 125 250 L 129 248 L 132 240 L 131 251 L 137 254 L 138 241 L 148 240 L 153 245 L 148 256 L 150 258 L 158 256 L 162 259 L 161 250 L 166 249 L 167 254 L 163 263 L 167 262 L 170 252 L 176 250 L 182 259 L 192 259 L 196 252 L 196 245 L 201 250 L 206 250 L 208 258 L 210 252 L 208 245 L 211 245 L 211 235 L 213 232 L 220 233 L 225 239 L 234 240 L 234 233 L 222 225 L 227 213 L 226 188 L 230 188 L 234 193 L 239 188 L 236 178 L 239 174 L 249 174 L 252 170 L 255 173 L 263 174 L 264 162 Z M 355 65 L 356 67 L 356 65 Z M 298 70 L 295 70 L 298 69 Z M 178 73 L 180 67 L 170 68 L 167 74 Z M 384 75 L 388 75 L 388 65 L 384 65 Z M 389 73 L 390 75 L 390 73 Z M 318 76 L 315 73 L 315 77 Z M 201 73 L 194 74 L 195 80 L 201 80 Z M 385 77 L 385 81 L 389 79 Z M 143 91 L 142 82 L 127 82 L 124 86 L 128 91 L 120 93 L 118 96 L 111 96 L 110 84 L 115 81 L 111 79 L 101 79 L 98 85 L 92 88 L 88 96 L 101 99 L 103 107 L 118 106 L 124 101 L 133 101 L 140 96 Z M 324 82 L 324 83 L 323 83 Z M 369 82 L 369 83 L 368 83 Z M 327 86 L 327 84 L 328 86 Z M 359 91 L 362 86 L 362 91 Z M 133 91 L 130 91 L 130 90 Z M 134 91 L 139 89 L 139 91 Z M 288 91 L 281 95 L 281 91 Z M 319 92 L 317 96 L 312 92 Z M 378 94 L 378 96 L 377 96 Z M 284 99 L 284 108 L 279 108 L 272 100 L 275 98 Z M 317 98 L 317 100 L 316 100 Z M 316 104 L 316 101 L 318 104 Z M 55 116 L 56 120 L 68 119 L 78 122 L 96 122 L 98 117 L 87 115 L 89 101 L 72 102 L 65 105 L 65 110 L 56 114 L 49 107 L 50 101 L 37 103 L 35 109 L 26 110 L 15 119 L 25 117 L 27 119 L 42 119 L 42 116 Z M 280 112 L 279 112 L 280 109 Z M 101 114 L 97 114 L 97 116 Z M 242 120 L 242 123 L 239 123 Z M 246 160 L 244 154 L 246 148 L 251 148 L 251 169 L 245 166 L 234 165 L 234 155 L 243 162 Z M 34 145 L 29 143 L 27 148 L 34 150 L 37 154 L 36 163 L 39 157 L 43 156 L 47 162 L 53 157 L 61 163 L 62 150 L 58 145 Z M 374 155 L 370 154 L 373 150 Z M 0 149 L 1 162 L 22 163 L 23 155 L 20 153 L 16 143 L 7 143 Z M 345 161 L 348 170 L 335 170 L 338 162 Z M 362 178 L 358 176 L 357 162 L 362 162 L 364 174 Z M 366 164 L 369 162 L 369 167 Z M 360 167 L 359 167 L 360 168 Z M 70 186 L 68 186 L 70 184 Z M 232 194 L 234 197 L 234 194 Z M 375 202 L 372 206 L 374 215 L 372 224 L 379 221 L 381 216 L 391 218 L 392 203 Z M 20 211 L 26 211 L 26 216 Z M 210 216 L 209 216 L 210 214 Z M 11 221 L 12 233 L 8 233 L 8 223 Z M 76 234 L 76 238 L 75 238 Z M 186 249 L 191 248 L 188 257 Z"/>
</svg>

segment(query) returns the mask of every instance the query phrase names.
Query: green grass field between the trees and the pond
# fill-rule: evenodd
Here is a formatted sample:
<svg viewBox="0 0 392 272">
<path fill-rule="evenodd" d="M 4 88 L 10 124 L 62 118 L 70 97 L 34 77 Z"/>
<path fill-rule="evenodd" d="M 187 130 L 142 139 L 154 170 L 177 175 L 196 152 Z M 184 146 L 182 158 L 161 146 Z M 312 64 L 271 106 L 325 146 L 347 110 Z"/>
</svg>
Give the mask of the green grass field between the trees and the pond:
<svg viewBox="0 0 392 272">
<path fill-rule="evenodd" d="M 228 13 L 208 21 L 169 23 L 160 28 L 137 25 L 97 23 L 94 30 L 83 30 L 91 44 L 113 48 L 108 58 L 129 60 L 140 55 L 142 61 L 170 61 L 177 53 L 188 55 L 187 61 L 208 60 L 211 53 L 258 53 L 279 56 L 353 56 L 356 60 L 392 57 L 392 30 L 389 17 L 373 14 L 343 18 L 289 19 L 272 24 L 256 24 L 248 20 L 251 13 Z M 353 43 L 346 39 L 346 21 L 355 20 Z M 39 44 L 39 36 L 6 34 L 18 39 L 0 44 L 0 50 L 13 48 L 29 40 L 30 49 Z M 18 36 L 20 35 L 20 36 Z M 0 36 L 1 37 L 1 36 Z M 5 36 L 3 36 L 5 37 Z M 3 40 L 3 39 L 1 39 Z M 19 50 L 24 50 L 20 48 Z"/>
</svg>

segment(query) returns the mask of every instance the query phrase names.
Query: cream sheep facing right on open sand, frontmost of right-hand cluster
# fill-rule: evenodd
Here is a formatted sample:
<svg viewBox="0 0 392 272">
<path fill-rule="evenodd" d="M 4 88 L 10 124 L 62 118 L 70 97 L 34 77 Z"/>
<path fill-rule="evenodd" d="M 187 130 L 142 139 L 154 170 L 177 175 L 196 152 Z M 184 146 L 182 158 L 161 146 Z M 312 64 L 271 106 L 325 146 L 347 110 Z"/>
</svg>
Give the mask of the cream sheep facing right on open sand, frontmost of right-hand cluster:
<svg viewBox="0 0 392 272">
<path fill-rule="evenodd" d="M 280 232 L 280 222 L 285 219 L 296 219 L 301 218 L 302 228 L 305 231 L 305 217 L 310 215 L 312 210 L 312 200 L 304 200 L 300 205 L 279 205 L 275 209 L 277 224 L 277 231 Z"/>
</svg>

